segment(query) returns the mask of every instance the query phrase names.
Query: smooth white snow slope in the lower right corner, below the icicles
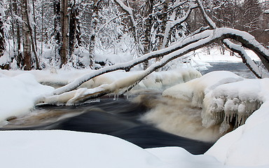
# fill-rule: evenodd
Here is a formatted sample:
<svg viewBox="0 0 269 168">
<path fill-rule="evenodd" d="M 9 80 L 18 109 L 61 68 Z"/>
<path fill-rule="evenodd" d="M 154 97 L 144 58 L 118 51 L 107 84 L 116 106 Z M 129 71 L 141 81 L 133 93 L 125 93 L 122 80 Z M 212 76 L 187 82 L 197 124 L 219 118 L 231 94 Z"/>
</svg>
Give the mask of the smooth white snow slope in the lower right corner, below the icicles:
<svg viewBox="0 0 269 168">
<path fill-rule="evenodd" d="M 205 154 L 213 155 L 225 165 L 268 167 L 269 79 L 265 78 L 258 80 L 258 82 L 246 82 L 248 82 L 250 87 L 249 90 L 253 87 L 253 92 L 256 91 L 254 95 L 258 94 L 261 97 L 263 104 L 247 118 L 245 125 L 238 127 L 233 132 L 219 139 Z M 257 90 L 258 87 L 259 90 Z"/>
</svg>

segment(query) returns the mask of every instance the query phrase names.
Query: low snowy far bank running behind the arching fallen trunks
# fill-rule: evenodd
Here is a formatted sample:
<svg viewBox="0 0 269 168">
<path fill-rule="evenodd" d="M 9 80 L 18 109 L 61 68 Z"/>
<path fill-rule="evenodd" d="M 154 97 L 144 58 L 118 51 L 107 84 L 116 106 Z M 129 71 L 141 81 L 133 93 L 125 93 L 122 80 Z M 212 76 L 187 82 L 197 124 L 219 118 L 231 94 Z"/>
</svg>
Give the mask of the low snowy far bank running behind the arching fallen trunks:
<svg viewBox="0 0 269 168">
<path fill-rule="evenodd" d="M 71 69 L 63 70 L 58 69 L 57 71 L 51 70 L 42 70 L 42 71 L 28 71 L 31 73 L 36 80 L 43 85 L 51 85 L 53 87 L 60 87 L 62 85 L 67 85 L 71 83 L 76 78 L 80 78 L 87 73 L 91 73 L 90 69 Z M 130 71 L 125 72 L 123 70 L 113 71 L 110 73 L 104 73 L 101 76 L 97 76 L 92 78 L 86 83 L 83 83 L 81 87 L 93 88 L 98 87 L 103 84 L 111 84 L 116 82 L 116 80 L 121 80 L 124 78 L 129 78 L 131 76 L 137 76 L 137 74 L 142 73 L 143 71 Z M 6 71 L 1 70 L 6 76 L 18 76 L 19 74 L 25 73 L 24 71 Z M 139 83 L 137 88 L 149 88 L 149 89 L 158 89 L 163 90 L 167 87 L 171 87 L 172 85 L 176 85 L 177 83 L 184 83 L 188 80 L 192 80 L 193 78 L 200 77 L 200 72 L 191 68 L 181 68 L 174 69 L 171 71 L 158 71 L 149 74 L 141 83 Z"/>
</svg>

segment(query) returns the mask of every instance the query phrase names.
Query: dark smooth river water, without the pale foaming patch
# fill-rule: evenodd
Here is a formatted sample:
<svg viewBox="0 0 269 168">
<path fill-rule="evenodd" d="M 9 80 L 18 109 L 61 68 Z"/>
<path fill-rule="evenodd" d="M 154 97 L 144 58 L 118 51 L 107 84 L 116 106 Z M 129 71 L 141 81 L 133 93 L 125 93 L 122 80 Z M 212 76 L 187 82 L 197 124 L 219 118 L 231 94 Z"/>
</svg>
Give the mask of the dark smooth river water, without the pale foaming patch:
<svg viewBox="0 0 269 168">
<path fill-rule="evenodd" d="M 252 78 L 246 66 L 238 63 L 212 63 L 209 70 L 201 73 L 229 69 L 235 69 L 235 72 L 243 77 Z M 245 74 L 248 75 L 244 76 Z M 152 97 L 160 97 L 160 94 L 149 95 L 147 99 L 152 99 Z M 130 99 L 124 97 L 116 101 L 106 97 L 100 102 L 81 106 L 37 106 L 33 113 L 9 120 L 9 124 L 1 130 L 95 132 L 120 137 L 142 148 L 180 146 L 193 154 L 205 153 L 213 145 L 209 142 L 179 137 L 143 122 L 141 116 L 147 111 L 149 111 L 149 106 L 143 103 L 131 102 Z"/>
</svg>

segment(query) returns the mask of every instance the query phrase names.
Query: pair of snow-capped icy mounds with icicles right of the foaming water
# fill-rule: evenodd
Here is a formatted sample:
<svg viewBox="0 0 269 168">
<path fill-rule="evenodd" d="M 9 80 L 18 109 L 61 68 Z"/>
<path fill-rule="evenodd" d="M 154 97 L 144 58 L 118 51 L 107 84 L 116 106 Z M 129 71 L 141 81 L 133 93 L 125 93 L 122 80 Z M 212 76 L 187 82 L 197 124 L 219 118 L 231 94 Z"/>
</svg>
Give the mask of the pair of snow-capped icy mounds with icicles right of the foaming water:
<svg viewBox="0 0 269 168">
<path fill-rule="evenodd" d="M 263 103 L 261 80 L 244 79 L 228 71 L 214 71 L 201 78 L 170 87 L 163 96 L 188 100 L 202 108 L 202 125 L 221 124 L 219 132 L 230 125 L 236 128 Z"/>
</svg>

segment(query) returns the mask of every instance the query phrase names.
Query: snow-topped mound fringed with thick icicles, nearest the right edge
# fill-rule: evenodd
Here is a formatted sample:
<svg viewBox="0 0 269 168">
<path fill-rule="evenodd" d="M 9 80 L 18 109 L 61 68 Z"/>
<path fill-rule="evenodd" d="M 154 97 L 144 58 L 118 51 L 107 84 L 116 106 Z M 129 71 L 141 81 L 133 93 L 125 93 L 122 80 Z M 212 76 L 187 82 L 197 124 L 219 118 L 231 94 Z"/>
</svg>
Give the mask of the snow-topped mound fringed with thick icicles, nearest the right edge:
<svg viewBox="0 0 269 168">
<path fill-rule="evenodd" d="M 263 103 L 259 83 L 258 79 L 244 79 L 219 85 L 208 92 L 203 102 L 202 125 L 210 127 L 221 123 L 221 133 L 226 132 L 230 124 L 234 128 L 243 125 Z"/>
</svg>

